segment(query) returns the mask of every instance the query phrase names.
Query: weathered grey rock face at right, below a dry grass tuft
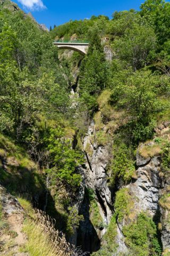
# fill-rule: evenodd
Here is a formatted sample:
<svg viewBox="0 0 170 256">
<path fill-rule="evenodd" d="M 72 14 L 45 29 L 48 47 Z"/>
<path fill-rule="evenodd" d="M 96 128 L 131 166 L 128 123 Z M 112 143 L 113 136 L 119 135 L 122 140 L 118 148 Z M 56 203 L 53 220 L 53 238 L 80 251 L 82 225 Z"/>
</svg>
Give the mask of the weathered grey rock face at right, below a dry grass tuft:
<svg viewBox="0 0 170 256">
<path fill-rule="evenodd" d="M 129 185 L 130 190 L 138 197 L 135 202 L 138 212 L 148 211 L 152 217 L 159 211 L 159 197 L 162 182 L 159 178 L 160 160 L 158 156 L 142 158 L 137 154 L 138 179 Z"/>
</svg>

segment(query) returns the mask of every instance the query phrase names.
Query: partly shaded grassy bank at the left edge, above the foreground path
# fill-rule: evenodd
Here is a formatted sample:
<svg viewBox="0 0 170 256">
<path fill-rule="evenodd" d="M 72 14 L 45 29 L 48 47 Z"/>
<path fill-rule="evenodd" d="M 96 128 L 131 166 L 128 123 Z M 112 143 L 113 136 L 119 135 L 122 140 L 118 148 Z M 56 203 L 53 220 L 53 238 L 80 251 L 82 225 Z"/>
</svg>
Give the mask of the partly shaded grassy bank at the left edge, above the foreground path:
<svg viewBox="0 0 170 256">
<path fill-rule="evenodd" d="M 27 194 L 31 198 L 41 194 L 44 185 L 44 175 L 39 175 L 39 167 L 30 159 L 25 150 L 16 146 L 14 142 L 0 134 L 0 179 L 11 194 Z M 3 161 L 6 162 L 4 169 Z"/>
</svg>

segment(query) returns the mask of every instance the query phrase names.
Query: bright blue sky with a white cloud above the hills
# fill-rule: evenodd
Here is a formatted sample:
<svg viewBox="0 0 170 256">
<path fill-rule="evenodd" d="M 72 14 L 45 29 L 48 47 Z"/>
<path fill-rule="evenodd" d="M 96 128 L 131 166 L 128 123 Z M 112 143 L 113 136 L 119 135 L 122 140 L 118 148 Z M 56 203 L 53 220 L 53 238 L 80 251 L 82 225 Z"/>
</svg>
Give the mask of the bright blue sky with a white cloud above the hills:
<svg viewBox="0 0 170 256">
<path fill-rule="evenodd" d="M 90 18 L 104 14 L 111 17 L 114 11 L 139 10 L 144 0 L 13 0 L 25 12 L 45 24 L 48 28 L 61 25 L 69 20 Z"/>
</svg>

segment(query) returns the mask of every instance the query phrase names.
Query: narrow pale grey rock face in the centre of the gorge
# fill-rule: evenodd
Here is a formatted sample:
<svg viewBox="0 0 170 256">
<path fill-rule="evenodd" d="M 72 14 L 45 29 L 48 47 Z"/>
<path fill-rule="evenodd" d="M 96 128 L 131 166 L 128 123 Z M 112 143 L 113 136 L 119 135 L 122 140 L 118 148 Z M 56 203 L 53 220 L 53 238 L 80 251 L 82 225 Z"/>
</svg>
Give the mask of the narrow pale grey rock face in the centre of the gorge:
<svg viewBox="0 0 170 256">
<path fill-rule="evenodd" d="M 87 158 L 86 186 L 95 191 L 97 201 L 100 204 L 100 214 L 104 222 L 108 223 L 112 217 L 112 196 L 111 190 L 108 188 L 108 175 L 106 173 L 109 152 L 107 147 L 98 147 L 96 143 L 91 143 L 91 137 L 94 133 L 95 125 L 92 122 L 89 126 L 88 134 L 83 141 L 83 148 Z M 89 151 L 87 151 L 87 148 Z"/>
</svg>

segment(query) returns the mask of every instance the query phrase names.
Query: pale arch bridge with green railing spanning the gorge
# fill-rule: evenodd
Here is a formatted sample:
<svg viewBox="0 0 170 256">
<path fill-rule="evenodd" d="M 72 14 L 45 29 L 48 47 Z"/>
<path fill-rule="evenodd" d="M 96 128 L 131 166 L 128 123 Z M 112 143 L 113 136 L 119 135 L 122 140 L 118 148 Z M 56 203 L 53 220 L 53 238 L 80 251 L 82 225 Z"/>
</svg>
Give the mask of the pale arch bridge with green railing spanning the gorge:
<svg viewBox="0 0 170 256">
<path fill-rule="evenodd" d="M 87 41 L 55 41 L 53 43 L 58 47 L 58 49 L 69 49 L 73 51 L 77 51 L 82 55 L 87 53 L 89 42 Z"/>
</svg>

